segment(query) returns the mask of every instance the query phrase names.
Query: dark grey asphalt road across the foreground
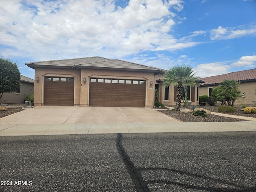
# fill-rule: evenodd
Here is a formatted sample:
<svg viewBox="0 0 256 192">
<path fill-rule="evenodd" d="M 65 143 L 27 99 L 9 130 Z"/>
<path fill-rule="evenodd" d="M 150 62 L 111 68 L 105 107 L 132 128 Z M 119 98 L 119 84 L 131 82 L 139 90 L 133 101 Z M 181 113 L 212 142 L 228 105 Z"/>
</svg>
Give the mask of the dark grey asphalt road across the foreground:
<svg viewBox="0 0 256 192">
<path fill-rule="evenodd" d="M 1 192 L 255 192 L 256 132 L 0 137 Z"/>
</svg>

